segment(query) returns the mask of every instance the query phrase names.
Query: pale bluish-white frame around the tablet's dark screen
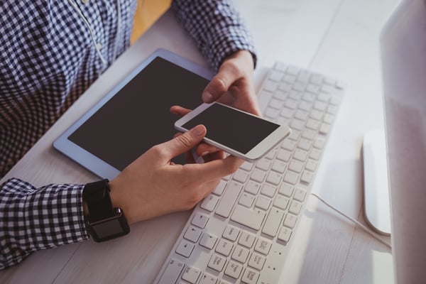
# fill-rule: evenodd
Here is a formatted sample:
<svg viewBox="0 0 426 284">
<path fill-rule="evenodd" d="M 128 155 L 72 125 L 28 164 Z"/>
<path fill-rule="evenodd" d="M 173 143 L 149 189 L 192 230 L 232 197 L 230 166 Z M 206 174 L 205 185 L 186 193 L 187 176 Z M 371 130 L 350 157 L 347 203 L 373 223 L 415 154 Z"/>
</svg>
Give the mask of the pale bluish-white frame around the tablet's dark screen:
<svg viewBox="0 0 426 284">
<path fill-rule="evenodd" d="M 106 163 L 96 155 L 93 155 L 89 151 L 73 143 L 68 139 L 68 137 L 74 133 L 82 124 L 84 124 L 84 122 L 87 121 L 87 119 L 96 113 L 102 106 L 104 106 L 104 104 L 106 104 L 109 99 L 114 97 L 115 94 L 117 94 L 124 86 L 126 86 L 126 84 L 128 84 L 133 79 L 133 77 L 136 77 L 139 72 L 141 72 L 155 58 L 158 57 L 163 58 L 164 60 L 168 60 L 169 62 L 172 62 L 175 65 L 193 72 L 200 77 L 204 77 L 207 80 L 211 80 L 214 76 L 212 70 L 197 65 L 195 62 L 187 60 L 186 58 L 182 58 L 180 55 L 172 53 L 169 50 L 164 50 L 162 48 L 155 50 L 155 52 L 149 55 L 146 60 L 143 60 L 143 62 L 138 65 L 138 67 L 131 71 L 130 74 L 124 78 L 124 80 L 113 87 L 102 99 L 99 100 L 99 102 L 94 104 L 94 107 L 89 109 L 89 111 L 83 114 L 80 119 L 77 119 L 77 121 L 75 121 L 72 126 L 70 126 L 64 133 L 62 133 L 53 142 L 53 148 L 66 155 L 68 158 L 74 160 L 76 163 L 79 163 L 84 168 L 87 168 L 87 170 L 91 171 L 100 178 L 108 178 L 109 180 L 112 180 L 116 177 L 116 175 L 119 175 L 120 170 L 114 168 L 112 165 L 109 165 L 109 163 Z"/>
</svg>

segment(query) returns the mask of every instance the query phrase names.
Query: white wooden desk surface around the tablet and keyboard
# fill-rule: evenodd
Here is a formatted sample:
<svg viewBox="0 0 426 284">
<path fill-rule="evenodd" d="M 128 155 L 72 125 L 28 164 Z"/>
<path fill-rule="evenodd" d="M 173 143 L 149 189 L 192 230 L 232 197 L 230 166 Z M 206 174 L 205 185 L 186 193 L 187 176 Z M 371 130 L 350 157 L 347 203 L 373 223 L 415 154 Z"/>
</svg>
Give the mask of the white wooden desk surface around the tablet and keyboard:
<svg viewBox="0 0 426 284">
<path fill-rule="evenodd" d="M 256 84 L 275 60 L 347 83 L 313 192 L 365 223 L 361 143 L 383 127 L 378 35 L 398 0 L 237 0 L 258 48 Z M 9 172 L 41 186 L 97 177 L 52 148 L 55 138 L 156 48 L 206 65 L 170 11 L 160 18 Z M 0 283 L 152 283 L 190 212 L 131 227 L 102 244 L 38 251 L 0 271 Z M 391 250 L 310 197 L 285 265 L 285 283 L 393 283 Z M 391 241 L 389 238 L 384 238 Z"/>
</svg>

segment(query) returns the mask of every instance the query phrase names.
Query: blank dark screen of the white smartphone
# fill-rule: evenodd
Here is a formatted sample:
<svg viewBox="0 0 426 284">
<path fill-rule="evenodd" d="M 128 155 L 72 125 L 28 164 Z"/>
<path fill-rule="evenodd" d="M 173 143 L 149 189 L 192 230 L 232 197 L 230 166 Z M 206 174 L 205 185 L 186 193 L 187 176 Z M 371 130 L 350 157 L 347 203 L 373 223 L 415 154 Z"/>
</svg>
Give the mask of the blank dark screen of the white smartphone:
<svg viewBox="0 0 426 284">
<path fill-rule="evenodd" d="M 198 124 L 206 126 L 207 138 L 244 154 L 280 127 L 222 104 L 212 104 L 182 127 L 192 129 Z"/>
</svg>

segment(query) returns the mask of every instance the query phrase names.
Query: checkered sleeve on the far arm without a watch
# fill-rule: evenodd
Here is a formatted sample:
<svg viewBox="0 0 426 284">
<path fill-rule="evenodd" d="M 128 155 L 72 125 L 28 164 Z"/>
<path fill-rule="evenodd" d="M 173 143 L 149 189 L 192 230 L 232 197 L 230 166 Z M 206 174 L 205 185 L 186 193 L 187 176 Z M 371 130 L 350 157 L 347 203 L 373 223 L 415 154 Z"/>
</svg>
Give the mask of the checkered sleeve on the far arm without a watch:
<svg viewBox="0 0 426 284">
<path fill-rule="evenodd" d="M 239 50 L 256 50 L 249 30 L 231 0 L 174 0 L 172 8 L 214 70 Z"/>
</svg>

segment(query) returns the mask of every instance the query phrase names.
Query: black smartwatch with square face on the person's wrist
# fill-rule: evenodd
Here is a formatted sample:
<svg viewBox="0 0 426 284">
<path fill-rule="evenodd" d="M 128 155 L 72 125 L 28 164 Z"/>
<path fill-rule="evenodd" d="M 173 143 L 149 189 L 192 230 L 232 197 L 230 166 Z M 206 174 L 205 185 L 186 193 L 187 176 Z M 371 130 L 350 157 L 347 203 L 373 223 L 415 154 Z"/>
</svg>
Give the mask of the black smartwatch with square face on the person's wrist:
<svg viewBox="0 0 426 284">
<path fill-rule="evenodd" d="M 108 180 L 85 185 L 83 201 L 89 209 L 84 223 L 94 241 L 108 241 L 129 234 L 130 228 L 123 210 L 112 207 Z"/>
</svg>

